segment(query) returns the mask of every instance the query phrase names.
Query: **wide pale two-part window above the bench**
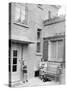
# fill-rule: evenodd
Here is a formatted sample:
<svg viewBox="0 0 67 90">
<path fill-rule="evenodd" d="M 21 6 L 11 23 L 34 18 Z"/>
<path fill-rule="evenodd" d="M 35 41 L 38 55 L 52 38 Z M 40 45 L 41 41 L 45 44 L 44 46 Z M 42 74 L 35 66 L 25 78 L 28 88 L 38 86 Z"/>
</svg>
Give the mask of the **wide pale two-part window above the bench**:
<svg viewBox="0 0 67 90">
<path fill-rule="evenodd" d="M 63 58 L 63 41 L 51 41 L 51 58 Z"/>
</svg>

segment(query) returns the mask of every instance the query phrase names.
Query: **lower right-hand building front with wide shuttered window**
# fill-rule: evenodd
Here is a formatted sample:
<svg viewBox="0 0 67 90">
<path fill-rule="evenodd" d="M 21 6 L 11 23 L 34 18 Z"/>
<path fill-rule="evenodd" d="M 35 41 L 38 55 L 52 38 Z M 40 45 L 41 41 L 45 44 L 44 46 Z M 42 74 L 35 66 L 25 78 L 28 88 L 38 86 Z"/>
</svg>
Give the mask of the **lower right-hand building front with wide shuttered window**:
<svg viewBox="0 0 67 90">
<path fill-rule="evenodd" d="M 65 62 L 65 17 L 44 21 L 42 36 L 44 41 L 43 57 L 48 61 Z"/>
</svg>

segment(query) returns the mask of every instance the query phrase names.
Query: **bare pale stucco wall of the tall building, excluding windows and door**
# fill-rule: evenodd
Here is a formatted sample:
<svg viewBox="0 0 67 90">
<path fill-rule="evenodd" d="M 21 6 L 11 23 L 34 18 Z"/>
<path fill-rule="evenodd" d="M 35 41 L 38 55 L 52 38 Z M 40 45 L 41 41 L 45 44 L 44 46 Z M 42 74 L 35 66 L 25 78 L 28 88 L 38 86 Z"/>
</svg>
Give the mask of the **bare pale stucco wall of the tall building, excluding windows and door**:
<svg viewBox="0 0 67 90">
<path fill-rule="evenodd" d="M 40 10 L 35 4 L 28 4 L 28 26 L 25 28 L 14 24 L 14 4 L 12 4 L 12 24 L 11 24 L 11 35 L 16 35 L 18 37 L 28 37 L 31 41 L 34 41 L 34 44 L 29 44 L 28 46 L 23 47 L 23 58 L 28 65 L 28 78 L 34 76 L 34 66 L 37 67 L 37 64 L 40 62 L 42 57 L 42 46 L 41 53 L 37 55 L 36 53 L 36 43 L 37 43 L 37 28 L 43 29 L 43 20 L 48 18 L 49 9 L 52 12 L 52 15 L 57 15 L 57 9 L 46 5 L 44 10 Z M 56 13 L 55 13 L 56 12 Z M 51 26 L 52 28 L 52 26 Z M 47 31 L 45 33 L 45 30 Z M 48 28 L 44 28 L 43 33 L 48 34 Z M 44 36 L 44 34 L 43 34 Z M 42 40 L 41 40 L 42 42 Z M 41 43 L 42 44 L 42 43 Z"/>
</svg>

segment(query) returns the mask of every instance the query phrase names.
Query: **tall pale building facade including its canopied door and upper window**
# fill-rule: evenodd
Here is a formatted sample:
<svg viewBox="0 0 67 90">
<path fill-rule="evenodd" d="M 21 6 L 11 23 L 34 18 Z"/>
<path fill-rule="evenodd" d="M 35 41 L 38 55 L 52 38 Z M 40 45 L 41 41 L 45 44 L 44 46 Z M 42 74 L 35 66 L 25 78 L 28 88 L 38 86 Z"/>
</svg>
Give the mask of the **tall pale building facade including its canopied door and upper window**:
<svg viewBox="0 0 67 90">
<path fill-rule="evenodd" d="M 43 21 L 57 15 L 57 6 L 9 3 L 9 83 L 18 82 L 23 78 L 21 76 L 23 60 L 27 64 L 28 79 L 35 76 L 35 68 L 46 55 L 43 38 L 56 31 L 53 31 L 53 28 L 57 29 L 53 26 L 49 30 L 49 26 L 45 27 Z M 58 27 L 60 28 L 59 25 Z"/>
</svg>

